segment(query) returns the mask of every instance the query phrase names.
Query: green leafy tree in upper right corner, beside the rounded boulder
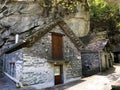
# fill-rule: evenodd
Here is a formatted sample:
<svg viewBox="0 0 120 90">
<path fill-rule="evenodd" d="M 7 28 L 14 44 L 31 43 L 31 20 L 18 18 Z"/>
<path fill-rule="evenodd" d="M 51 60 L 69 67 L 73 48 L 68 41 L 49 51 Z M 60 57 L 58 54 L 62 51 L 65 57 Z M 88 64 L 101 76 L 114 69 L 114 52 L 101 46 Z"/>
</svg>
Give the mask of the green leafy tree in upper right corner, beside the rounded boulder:
<svg viewBox="0 0 120 90">
<path fill-rule="evenodd" d="M 108 39 L 112 45 L 120 42 L 116 37 L 116 34 L 120 34 L 119 5 L 104 0 L 89 0 L 91 31 L 107 31 Z"/>
</svg>

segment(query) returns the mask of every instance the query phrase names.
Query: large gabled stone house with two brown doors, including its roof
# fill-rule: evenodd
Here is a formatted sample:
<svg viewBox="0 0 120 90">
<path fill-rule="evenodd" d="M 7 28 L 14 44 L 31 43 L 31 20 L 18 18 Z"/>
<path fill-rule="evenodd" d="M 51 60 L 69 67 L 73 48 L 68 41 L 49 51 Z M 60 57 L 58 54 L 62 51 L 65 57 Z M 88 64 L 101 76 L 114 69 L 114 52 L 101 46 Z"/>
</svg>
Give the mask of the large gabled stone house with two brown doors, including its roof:
<svg viewBox="0 0 120 90">
<path fill-rule="evenodd" d="M 4 51 L 5 72 L 23 85 L 44 88 L 82 76 L 81 42 L 65 23 L 51 25 Z"/>
</svg>

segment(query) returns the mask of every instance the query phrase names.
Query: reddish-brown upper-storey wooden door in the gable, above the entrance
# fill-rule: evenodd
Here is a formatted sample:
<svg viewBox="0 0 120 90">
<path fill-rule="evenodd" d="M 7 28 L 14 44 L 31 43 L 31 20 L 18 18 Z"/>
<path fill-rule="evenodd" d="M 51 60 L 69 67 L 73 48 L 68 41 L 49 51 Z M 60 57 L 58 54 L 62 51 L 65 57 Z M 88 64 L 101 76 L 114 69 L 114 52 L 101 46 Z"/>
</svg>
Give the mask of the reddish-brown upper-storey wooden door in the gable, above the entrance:
<svg viewBox="0 0 120 90">
<path fill-rule="evenodd" d="M 52 33 L 52 57 L 53 59 L 63 58 L 63 41 L 61 34 Z"/>
</svg>

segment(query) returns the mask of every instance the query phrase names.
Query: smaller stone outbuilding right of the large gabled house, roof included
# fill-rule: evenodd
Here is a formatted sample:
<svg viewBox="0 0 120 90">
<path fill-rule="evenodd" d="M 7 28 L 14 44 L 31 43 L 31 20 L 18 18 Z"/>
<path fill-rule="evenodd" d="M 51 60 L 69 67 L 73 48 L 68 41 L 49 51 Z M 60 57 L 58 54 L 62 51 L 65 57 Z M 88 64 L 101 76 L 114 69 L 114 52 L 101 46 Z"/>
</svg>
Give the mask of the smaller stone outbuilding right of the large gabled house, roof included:
<svg viewBox="0 0 120 90">
<path fill-rule="evenodd" d="M 96 33 L 90 38 L 85 50 L 81 51 L 83 76 L 90 76 L 112 67 L 114 57 L 113 53 L 106 50 L 108 40 L 105 38 L 105 32 Z"/>
</svg>

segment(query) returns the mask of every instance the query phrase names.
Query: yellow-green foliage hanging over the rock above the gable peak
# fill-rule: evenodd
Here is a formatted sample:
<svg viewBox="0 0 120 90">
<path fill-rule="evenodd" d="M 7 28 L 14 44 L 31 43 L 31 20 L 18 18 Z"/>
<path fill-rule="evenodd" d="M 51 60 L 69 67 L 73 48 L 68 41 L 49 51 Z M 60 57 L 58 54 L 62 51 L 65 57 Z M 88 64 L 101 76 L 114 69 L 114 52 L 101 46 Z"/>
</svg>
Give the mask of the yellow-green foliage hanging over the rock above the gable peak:
<svg viewBox="0 0 120 90">
<path fill-rule="evenodd" d="M 38 0 L 38 2 L 44 8 L 45 16 L 51 12 L 60 16 L 76 13 L 76 6 L 81 2 L 84 7 L 87 6 L 87 0 Z"/>
</svg>

